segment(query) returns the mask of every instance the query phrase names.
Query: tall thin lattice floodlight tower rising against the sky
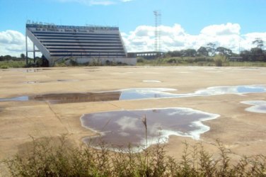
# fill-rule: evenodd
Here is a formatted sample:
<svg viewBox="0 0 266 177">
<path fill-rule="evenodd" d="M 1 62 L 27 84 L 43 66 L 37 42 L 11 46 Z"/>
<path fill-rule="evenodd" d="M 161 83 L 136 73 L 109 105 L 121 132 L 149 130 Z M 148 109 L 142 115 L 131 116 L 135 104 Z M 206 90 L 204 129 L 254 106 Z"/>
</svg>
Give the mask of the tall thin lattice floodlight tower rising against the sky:
<svg viewBox="0 0 266 177">
<path fill-rule="evenodd" d="M 155 52 L 161 52 L 161 11 L 154 11 L 155 17 Z"/>
</svg>

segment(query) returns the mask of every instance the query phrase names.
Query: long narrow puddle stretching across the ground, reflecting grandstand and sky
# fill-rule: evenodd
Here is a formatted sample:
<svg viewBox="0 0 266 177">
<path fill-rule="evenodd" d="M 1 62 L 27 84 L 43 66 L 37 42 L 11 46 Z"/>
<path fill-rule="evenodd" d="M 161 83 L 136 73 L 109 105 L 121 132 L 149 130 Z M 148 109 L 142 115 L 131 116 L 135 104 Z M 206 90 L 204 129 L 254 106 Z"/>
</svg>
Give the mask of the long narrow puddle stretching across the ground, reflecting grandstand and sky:
<svg viewBox="0 0 266 177">
<path fill-rule="evenodd" d="M 40 96 L 0 98 L 0 101 L 49 101 L 50 103 L 79 103 L 95 101 L 137 100 L 148 98 L 180 98 L 191 96 L 216 96 L 223 94 L 264 93 L 266 92 L 266 87 L 260 85 L 215 86 L 195 91 L 194 93 L 185 94 L 171 93 L 173 91 L 176 91 L 176 89 L 143 88 L 92 93 L 50 93 Z"/>
</svg>

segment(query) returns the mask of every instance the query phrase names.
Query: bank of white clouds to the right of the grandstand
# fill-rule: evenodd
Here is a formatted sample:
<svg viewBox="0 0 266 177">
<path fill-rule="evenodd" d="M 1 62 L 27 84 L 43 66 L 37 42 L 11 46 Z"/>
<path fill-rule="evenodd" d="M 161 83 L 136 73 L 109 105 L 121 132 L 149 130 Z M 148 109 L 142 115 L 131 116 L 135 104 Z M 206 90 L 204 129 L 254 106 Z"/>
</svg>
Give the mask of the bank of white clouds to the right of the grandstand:
<svg viewBox="0 0 266 177">
<path fill-rule="evenodd" d="M 128 52 L 154 51 L 153 26 L 140 25 L 128 34 L 123 33 Z M 203 28 L 198 35 L 190 35 L 181 25 L 161 25 L 161 47 L 164 52 L 169 50 L 183 50 L 187 48 L 199 49 L 213 42 L 216 47 L 226 47 L 238 53 L 241 50 L 250 50 L 255 47 L 252 42 L 261 38 L 266 42 L 266 33 L 248 33 L 241 35 L 241 26 L 238 23 L 209 25 Z"/>
</svg>

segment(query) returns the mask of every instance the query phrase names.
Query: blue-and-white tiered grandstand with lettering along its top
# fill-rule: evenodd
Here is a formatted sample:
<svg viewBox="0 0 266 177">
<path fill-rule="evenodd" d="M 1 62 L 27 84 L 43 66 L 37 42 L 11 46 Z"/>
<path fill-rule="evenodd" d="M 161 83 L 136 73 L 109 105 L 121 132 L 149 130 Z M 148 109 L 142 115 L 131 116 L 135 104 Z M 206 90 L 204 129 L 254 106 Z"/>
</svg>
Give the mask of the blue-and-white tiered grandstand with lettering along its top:
<svg viewBox="0 0 266 177">
<path fill-rule="evenodd" d="M 33 50 L 28 50 L 28 38 Z M 35 49 L 37 47 L 37 50 Z M 118 27 L 26 24 L 26 58 L 28 52 L 41 52 L 49 66 L 56 62 L 125 63 L 135 65 L 136 58 L 128 58 Z"/>
</svg>

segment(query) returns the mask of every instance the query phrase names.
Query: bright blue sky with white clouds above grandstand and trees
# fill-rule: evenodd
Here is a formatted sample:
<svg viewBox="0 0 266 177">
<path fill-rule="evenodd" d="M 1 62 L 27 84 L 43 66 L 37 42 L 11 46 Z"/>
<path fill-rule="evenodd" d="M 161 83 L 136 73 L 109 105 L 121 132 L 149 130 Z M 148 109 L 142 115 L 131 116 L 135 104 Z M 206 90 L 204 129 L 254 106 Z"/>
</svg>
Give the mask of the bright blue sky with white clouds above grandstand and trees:
<svg viewBox="0 0 266 177">
<path fill-rule="evenodd" d="M 0 55 L 25 53 L 25 23 L 118 26 L 128 52 L 154 50 L 161 11 L 162 50 L 214 42 L 233 52 L 266 45 L 266 0 L 0 0 Z"/>
</svg>

